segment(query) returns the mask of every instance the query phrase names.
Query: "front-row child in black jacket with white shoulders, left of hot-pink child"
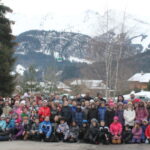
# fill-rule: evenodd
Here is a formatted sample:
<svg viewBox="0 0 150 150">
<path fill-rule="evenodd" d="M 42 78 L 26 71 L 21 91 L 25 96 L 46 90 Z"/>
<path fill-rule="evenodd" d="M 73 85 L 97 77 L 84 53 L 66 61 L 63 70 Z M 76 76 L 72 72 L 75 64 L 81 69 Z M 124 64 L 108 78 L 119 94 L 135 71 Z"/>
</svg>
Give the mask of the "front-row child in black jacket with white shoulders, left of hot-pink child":
<svg viewBox="0 0 150 150">
<path fill-rule="evenodd" d="M 105 126 L 105 122 L 101 121 L 100 122 L 100 142 L 103 144 L 109 144 L 109 128 L 107 126 Z"/>
</svg>

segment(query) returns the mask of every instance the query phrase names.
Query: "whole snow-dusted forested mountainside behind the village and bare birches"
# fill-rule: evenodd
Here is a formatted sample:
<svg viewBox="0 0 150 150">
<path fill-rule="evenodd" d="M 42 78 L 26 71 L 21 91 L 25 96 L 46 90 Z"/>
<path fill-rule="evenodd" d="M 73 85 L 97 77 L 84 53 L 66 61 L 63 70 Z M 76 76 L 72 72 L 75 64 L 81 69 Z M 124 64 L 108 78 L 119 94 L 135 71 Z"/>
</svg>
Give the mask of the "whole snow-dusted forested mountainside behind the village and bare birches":
<svg viewBox="0 0 150 150">
<path fill-rule="evenodd" d="M 132 42 L 133 39 L 142 38 L 143 36 L 144 35 L 141 34 L 135 37 L 127 37 L 123 49 L 125 53 L 122 53 L 124 60 L 132 63 L 132 59 L 134 58 L 133 60 L 135 60 L 138 55 L 143 57 L 145 52 L 142 53 L 143 46 L 141 43 L 134 44 Z M 84 68 L 89 70 L 91 66 L 94 66 L 94 64 L 99 61 L 103 63 L 105 58 L 103 46 L 106 46 L 106 37 L 106 34 L 102 34 L 98 37 L 90 37 L 80 33 L 57 32 L 54 30 L 30 30 L 21 33 L 16 38 L 18 45 L 15 51 L 15 57 L 17 57 L 15 70 L 23 75 L 30 65 L 34 65 L 38 70 L 37 72 L 41 72 L 40 78 L 42 78 L 42 72 L 46 72 L 47 68 L 55 68 L 56 73 L 61 71 L 61 80 L 88 77 L 89 73 L 85 75 L 85 73 L 82 73 L 82 70 L 84 70 Z M 98 59 L 89 51 L 91 41 L 93 40 L 100 41 L 97 45 L 95 44 L 93 46 L 95 50 L 99 48 L 102 52 Z M 146 63 L 146 66 L 149 65 L 148 61 L 144 63 Z M 142 69 L 142 67 L 143 65 L 139 64 L 139 70 Z M 138 68 L 138 66 L 136 68 Z M 104 73 L 104 68 L 102 70 Z M 94 71 L 89 78 L 97 78 Z"/>
</svg>

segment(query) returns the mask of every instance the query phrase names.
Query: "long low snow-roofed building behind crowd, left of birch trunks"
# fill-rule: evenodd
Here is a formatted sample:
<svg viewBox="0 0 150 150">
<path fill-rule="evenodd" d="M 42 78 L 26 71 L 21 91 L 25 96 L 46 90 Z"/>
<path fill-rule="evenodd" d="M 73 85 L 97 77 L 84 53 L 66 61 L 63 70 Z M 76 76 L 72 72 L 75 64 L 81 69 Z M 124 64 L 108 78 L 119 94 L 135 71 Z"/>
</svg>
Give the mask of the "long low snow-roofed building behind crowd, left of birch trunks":
<svg viewBox="0 0 150 150">
<path fill-rule="evenodd" d="M 88 89 L 92 90 L 103 90 L 106 89 L 106 85 L 102 80 L 74 80 L 70 83 L 70 85 L 85 85 Z"/>
</svg>

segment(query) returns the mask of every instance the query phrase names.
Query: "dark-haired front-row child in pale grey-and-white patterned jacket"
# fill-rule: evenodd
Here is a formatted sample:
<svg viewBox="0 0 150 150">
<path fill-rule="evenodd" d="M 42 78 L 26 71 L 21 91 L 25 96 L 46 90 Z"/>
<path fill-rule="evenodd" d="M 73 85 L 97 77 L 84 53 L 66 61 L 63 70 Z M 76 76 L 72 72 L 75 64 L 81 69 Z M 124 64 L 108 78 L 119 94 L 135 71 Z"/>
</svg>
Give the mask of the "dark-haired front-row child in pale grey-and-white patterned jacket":
<svg viewBox="0 0 150 150">
<path fill-rule="evenodd" d="M 67 140 L 69 135 L 69 126 L 64 118 L 60 119 L 60 124 L 58 125 L 56 132 L 59 136 L 59 140 L 63 140 L 64 142 Z"/>
</svg>

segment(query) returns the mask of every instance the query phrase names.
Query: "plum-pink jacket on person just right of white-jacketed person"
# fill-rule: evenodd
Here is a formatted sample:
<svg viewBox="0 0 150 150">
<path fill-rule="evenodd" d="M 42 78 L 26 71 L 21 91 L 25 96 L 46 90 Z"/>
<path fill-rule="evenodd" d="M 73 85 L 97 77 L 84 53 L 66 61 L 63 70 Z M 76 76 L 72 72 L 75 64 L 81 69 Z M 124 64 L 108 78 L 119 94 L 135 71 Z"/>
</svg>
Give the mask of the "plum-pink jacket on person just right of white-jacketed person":
<svg viewBox="0 0 150 150">
<path fill-rule="evenodd" d="M 144 119 L 148 119 L 148 111 L 144 107 L 138 107 L 136 109 L 136 120 L 142 121 Z"/>
</svg>

